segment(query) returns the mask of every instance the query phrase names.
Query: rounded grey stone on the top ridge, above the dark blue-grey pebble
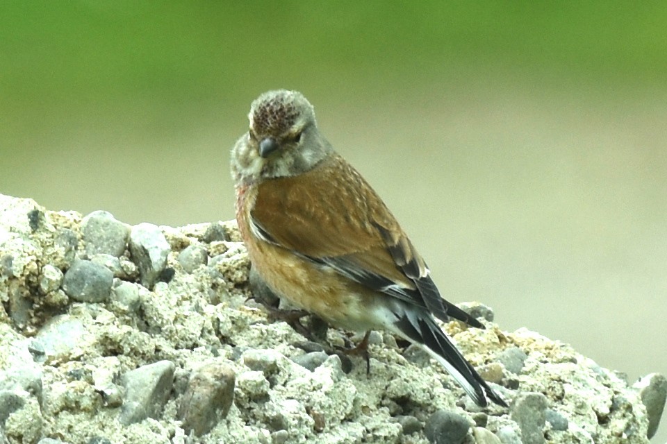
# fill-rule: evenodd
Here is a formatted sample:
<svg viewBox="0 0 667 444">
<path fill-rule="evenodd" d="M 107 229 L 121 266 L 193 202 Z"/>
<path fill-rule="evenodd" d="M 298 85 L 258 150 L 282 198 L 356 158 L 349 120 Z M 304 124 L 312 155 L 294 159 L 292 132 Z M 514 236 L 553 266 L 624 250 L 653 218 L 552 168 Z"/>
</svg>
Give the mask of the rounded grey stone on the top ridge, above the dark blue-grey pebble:
<svg viewBox="0 0 667 444">
<path fill-rule="evenodd" d="M 94 211 L 81 221 L 85 253 L 88 257 L 97 254 L 120 257 L 125 253 L 129 227 L 106 211 Z"/>
</svg>

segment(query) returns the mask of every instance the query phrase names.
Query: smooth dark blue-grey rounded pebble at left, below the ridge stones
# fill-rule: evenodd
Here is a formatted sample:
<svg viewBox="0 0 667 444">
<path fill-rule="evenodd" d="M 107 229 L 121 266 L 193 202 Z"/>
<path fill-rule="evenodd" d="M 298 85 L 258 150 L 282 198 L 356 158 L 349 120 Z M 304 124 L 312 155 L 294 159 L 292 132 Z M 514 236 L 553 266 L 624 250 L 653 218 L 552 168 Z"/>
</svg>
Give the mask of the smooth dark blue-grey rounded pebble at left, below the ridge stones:
<svg viewBox="0 0 667 444">
<path fill-rule="evenodd" d="M 112 284 L 113 273 L 108 268 L 79 259 L 65 273 L 63 290 L 79 302 L 104 302 L 111 294 Z"/>
</svg>

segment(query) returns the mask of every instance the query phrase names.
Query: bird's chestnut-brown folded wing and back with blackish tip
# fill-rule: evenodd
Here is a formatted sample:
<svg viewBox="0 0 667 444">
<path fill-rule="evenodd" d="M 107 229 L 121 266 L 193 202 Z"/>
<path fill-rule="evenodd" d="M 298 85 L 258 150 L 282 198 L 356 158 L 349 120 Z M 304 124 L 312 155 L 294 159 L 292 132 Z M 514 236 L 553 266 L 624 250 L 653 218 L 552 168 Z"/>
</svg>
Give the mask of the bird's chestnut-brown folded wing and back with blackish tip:
<svg viewBox="0 0 667 444">
<path fill-rule="evenodd" d="M 428 309 L 443 321 L 449 315 L 481 327 L 440 297 L 394 216 L 342 157 L 334 155 L 297 178 L 263 182 L 251 218 L 267 241 Z"/>
</svg>

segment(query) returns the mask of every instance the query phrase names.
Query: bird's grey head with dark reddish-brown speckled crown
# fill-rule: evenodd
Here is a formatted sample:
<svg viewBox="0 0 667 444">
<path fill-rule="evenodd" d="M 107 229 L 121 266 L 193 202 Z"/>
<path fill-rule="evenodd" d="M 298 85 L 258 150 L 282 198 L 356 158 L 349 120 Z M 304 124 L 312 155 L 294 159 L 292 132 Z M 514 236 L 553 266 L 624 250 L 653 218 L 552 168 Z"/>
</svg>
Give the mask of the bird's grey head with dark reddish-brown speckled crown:
<svg viewBox="0 0 667 444">
<path fill-rule="evenodd" d="M 299 92 L 265 92 L 250 105 L 250 128 L 231 151 L 236 182 L 297 176 L 331 153 L 313 105 Z"/>
</svg>

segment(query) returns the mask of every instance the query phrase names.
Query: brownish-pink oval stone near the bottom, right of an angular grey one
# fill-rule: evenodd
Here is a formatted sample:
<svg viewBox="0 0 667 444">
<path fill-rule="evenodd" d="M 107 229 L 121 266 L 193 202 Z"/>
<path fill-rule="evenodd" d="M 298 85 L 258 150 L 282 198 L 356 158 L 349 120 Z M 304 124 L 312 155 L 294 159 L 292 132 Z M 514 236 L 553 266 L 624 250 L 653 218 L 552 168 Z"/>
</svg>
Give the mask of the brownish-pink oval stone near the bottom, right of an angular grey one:
<svg viewBox="0 0 667 444">
<path fill-rule="evenodd" d="M 206 364 L 190 375 L 178 418 L 186 432 L 201 436 L 227 417 L 234 398 L 236 374 L 224 362 Z"/>
</svg>

